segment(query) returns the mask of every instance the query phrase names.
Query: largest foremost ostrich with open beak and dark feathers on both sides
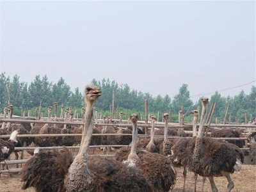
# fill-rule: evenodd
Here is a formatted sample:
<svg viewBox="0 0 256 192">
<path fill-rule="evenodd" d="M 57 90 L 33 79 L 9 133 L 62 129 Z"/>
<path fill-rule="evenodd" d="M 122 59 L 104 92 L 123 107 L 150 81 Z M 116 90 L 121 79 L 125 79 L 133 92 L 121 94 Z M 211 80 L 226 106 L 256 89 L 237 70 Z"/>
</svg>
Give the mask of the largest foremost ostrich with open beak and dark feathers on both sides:
<svg viewBox="0 0 256 192">
<path fill-rule="evenodd" d="M 88 157 L 93 127 L 93 102 L 100 90 L 86 86 L 86 120 L 84 139 L 76 158 L 65 147 L 63 152 L 42 151 L 31 157 L 20 172 L 22 189 L 34 187 L 36 191 L 152 191 L 143 173 L 118 161 L 104 157 Z M 99 166 L 100 164 L 100 166 Z"/>
</svg>

